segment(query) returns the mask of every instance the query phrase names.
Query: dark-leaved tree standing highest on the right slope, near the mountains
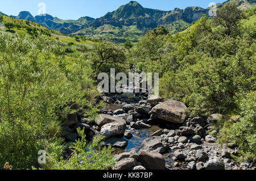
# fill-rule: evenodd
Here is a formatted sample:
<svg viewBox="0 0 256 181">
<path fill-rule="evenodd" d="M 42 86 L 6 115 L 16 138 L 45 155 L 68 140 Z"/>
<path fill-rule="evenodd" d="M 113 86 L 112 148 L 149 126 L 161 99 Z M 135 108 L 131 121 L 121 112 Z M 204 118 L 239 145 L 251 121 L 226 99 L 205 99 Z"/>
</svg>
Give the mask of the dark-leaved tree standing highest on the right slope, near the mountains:
<svg viewBox="0 0 256 181">
<path fill-rule="evenodd" d="M 238 31 L 238 24 L 245 18 L 243 11 L 237 8 L 236 3 L 228 3 L 217 10 L 217 16 L 213 17 L 213 23 L 224 28 L 225 35 L 232 35 Z"/>
</svg>

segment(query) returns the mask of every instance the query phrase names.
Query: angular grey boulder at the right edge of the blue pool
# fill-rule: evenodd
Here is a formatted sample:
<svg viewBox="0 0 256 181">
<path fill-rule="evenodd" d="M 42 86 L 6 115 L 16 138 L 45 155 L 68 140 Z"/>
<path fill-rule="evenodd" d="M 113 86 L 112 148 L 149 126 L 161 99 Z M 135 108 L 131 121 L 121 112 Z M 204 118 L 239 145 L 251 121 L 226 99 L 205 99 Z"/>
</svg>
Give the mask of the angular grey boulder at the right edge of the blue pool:
<svg viewBox="0 0 256 181">
<path fill-rule="evenodd" d="M 141 147 L 142 149 L 157 151 L 159 153 L 164 153 L 164 151 L 166 151 L 162 143 L 162 137 L 160 136 L 152 136 L 150 138 L 147 138 L 142 142 Z"/>
</svg>

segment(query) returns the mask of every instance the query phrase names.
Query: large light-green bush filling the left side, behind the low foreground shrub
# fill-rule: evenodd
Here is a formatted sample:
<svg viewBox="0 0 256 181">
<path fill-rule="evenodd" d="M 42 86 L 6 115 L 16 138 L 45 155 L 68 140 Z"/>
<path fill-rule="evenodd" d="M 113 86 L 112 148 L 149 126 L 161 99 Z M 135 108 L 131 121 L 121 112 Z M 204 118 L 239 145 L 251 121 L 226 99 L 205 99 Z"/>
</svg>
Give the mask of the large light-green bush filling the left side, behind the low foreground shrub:
<svg viewBox="0 0 256 181">
<path fill-rule="evenodd" d="M 56 41 L 10 33 L 0 36 L 0 70 L 0 165 L 31 169 L 72 113 L 67 103 L 93 100 L 92 71 Z"/>
</svg>

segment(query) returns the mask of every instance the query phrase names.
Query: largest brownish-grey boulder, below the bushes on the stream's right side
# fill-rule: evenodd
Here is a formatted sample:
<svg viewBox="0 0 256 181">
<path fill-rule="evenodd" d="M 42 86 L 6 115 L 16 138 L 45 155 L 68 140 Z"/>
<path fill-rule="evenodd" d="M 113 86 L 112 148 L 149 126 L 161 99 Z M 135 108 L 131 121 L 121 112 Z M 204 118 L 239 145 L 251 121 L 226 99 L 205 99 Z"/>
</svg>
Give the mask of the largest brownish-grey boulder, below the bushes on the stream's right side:
<svg viewBox="0 0 256 181">
<path fill-rule="evenodd" d="M 188 115 L 185 112 L 187 106 L 184 103 L 176 100 L 168 100 L 160 103 L 152 108 L 152 114 L 159 119 L 170 121 L 171 123 L 181 124 L 187 119 Z"/>
</svg>

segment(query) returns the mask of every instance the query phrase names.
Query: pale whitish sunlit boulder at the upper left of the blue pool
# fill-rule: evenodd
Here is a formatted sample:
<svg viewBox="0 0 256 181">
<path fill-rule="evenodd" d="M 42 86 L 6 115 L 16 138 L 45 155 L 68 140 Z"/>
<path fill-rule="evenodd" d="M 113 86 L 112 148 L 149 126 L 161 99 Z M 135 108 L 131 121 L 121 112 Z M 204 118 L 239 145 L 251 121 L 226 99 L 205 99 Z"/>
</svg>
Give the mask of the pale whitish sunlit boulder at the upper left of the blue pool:
<svg viewBox="0 0 256 181">
<path fill-rule="evenodd" d="M 122 119 L 123 120 L 123 119 Z M 101 127 L 101 134 L 105 138 L 122 136 L 125 133 L 126 123 L 125 121 L 114 121 L 112 123 L 105 124 Z"/>
</svg>

